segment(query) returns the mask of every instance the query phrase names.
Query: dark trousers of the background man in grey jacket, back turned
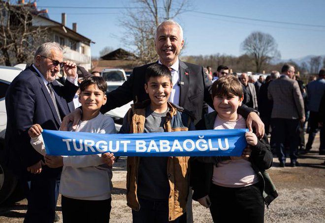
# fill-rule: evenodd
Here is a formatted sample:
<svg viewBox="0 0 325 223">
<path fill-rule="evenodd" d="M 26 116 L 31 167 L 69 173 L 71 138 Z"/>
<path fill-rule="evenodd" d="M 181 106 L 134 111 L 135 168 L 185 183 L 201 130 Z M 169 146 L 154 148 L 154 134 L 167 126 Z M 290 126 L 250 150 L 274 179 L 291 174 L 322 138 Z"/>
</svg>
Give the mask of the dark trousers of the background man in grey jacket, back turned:
<svg viewBox="0 0 325 223">
<path fill-rule="evenodd" d="M 286 161 L 286 142 L 290 148 L 291 162 L 296 162 L 299 145 L 299 120 L 287 118 L 272 118 L 272 140 L 280 162 Z"/>
</svg>

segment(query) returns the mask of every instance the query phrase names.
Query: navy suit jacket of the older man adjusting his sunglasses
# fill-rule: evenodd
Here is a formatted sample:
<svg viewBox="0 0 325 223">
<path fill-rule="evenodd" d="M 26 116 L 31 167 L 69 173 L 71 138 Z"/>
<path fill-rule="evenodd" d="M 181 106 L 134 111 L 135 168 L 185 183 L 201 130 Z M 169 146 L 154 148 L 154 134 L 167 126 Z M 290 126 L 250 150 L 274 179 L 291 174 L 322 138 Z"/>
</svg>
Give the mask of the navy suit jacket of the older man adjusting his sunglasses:
<svg viewBox="0 0 325 223">
<path fill-rule="evenodd" d="M 72 101 L 78 86 L 66 82 L 64 86 L 52 82 L 61 116 L 70 111 L 67 102 Z M 36 152 L 28 135 L 33 124 L 40 124 L 43 129 L 59 130 L 60 120 L 54 104 L 42 78 L 30 66 L 22 71 L 10 84 L 5 97 L 7 127 L 5 147 L 7 164 L 14 173 L 26 174 L 27 167 L 43 157 Z M 44 171 L 60 173 L 60 170 L 43 167 Z"/>
</svg>

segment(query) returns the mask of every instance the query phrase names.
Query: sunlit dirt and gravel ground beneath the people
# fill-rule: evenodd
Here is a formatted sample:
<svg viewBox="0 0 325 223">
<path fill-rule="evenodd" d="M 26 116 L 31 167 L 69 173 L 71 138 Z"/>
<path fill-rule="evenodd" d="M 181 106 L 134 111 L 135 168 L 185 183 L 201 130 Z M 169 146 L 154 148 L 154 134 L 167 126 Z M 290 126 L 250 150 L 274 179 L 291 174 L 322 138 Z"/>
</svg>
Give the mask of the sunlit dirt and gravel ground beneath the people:
<svg viewBox="0 0 325 223">
<path fill-rule="evenodd" d="M 306 134 L 306 137 L 308 135 Z M 306 138 L 307 139 L 307 138 Z M 276 158 L 268 172 L 279 193 L 269 209 L 265 208 L 265 223 L 325 222 L 325 156 L 318 155 L 319 134 L 311 153 L 300 155 L 300 167 L 279 167 Z M 287 159 L 290 163 L 290 160 Z M 113 168 L 111 223 L 131 223 L 131 210 L 126 205 L 126 158 L 121 157 Z M 0 206 L 0 223 L 22 223 L 27 200 Z M 57 213 L 61 216 L 61 200 Z M 208 209 L 193 202 L 195 223 L 211 223 Z M 62 222 L 62 220 L 60 221 Z"/>
</svg>

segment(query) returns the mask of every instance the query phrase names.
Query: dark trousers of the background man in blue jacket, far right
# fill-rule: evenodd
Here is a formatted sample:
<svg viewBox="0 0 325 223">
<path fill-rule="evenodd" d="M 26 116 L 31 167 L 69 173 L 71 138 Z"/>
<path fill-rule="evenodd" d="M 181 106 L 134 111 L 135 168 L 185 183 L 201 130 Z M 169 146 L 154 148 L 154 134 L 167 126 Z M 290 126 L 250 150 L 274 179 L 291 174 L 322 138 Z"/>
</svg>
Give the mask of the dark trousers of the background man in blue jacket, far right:
<svg viewBox="0 0 325 223">
<path fill-rule="evenodd" d="M 317 134 L 317 129 L 318 129 L 318 112 L 312 112 L 310 111 L 310 116 L 309 116 L 309 136 L 308 136 L 308 142 L 306 144 L 306 150 L 310 150 L 312 148 L 315 136 Z M 320 128 L 320 153 L 325 154 L 325 126 Z"/>
</svg>

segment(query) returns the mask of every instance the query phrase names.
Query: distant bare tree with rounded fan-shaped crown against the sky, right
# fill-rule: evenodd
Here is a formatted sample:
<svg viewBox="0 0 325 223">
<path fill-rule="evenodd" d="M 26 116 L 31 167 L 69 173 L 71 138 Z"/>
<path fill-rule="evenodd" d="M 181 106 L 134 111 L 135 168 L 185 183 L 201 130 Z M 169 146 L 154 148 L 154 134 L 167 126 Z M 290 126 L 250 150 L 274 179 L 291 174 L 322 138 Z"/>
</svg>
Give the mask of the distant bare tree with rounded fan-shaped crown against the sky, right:
<svg viewBox="0 0 325 223">
<path fill-rule="evenodd" d="M 256 72 L 261 72 L 263 65 L 271 58 L 280 57 L 275 39 L 267 33 L 252 32 L 241 44 L 246 54 L 253 56 Z"/>
</svg>

